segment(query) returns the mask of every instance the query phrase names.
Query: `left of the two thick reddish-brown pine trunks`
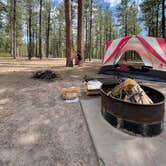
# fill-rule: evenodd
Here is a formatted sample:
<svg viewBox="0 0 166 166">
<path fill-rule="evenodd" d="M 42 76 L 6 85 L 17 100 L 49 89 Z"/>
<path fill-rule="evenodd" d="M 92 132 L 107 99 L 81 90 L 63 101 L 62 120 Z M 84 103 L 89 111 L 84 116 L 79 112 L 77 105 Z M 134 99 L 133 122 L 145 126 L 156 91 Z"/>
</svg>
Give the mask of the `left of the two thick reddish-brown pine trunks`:
<svg viewBox="0 0 166 166">
<path fill-rule="evenodd" d="M 66 21 L 66 67 L 73 67 L 72 52 L 72 23 L 71 23 L 71 0 L 65 0 Z"/>
</svg>

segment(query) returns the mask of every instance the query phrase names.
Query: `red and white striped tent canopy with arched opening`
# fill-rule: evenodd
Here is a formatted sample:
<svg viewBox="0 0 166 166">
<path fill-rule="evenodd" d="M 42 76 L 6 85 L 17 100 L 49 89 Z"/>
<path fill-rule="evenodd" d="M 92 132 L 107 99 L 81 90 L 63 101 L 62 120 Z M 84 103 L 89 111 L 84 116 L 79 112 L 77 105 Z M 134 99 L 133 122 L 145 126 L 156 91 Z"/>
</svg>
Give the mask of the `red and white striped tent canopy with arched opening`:
<svg viewBox="0 0 166 166">
<path fill-rule="evenodd" d="M 126 36 L 106 43 L 104 65 L 118 63 L 126 51 L 136 51 L 146 66 L 166 71 L 166 40 L 164 38 Z"/>
</svg>

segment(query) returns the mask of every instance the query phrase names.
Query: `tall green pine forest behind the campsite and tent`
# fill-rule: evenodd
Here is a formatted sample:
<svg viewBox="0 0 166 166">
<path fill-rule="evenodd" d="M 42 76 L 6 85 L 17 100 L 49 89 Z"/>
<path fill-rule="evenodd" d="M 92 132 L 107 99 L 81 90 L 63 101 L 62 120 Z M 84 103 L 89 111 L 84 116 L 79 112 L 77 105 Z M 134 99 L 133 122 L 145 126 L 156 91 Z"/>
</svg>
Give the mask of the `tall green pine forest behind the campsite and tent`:
<svg viewBox="0 0 166 166">
<path fill-rule="evenodd" d="M 103 1 L 104 2 L 104 1 Z M 100 59 L 105 42 L 127 35 L 165 36 L 165 0 L 0 0 L 0 56 Z"/>
</svg>

